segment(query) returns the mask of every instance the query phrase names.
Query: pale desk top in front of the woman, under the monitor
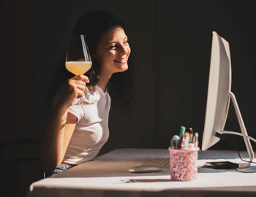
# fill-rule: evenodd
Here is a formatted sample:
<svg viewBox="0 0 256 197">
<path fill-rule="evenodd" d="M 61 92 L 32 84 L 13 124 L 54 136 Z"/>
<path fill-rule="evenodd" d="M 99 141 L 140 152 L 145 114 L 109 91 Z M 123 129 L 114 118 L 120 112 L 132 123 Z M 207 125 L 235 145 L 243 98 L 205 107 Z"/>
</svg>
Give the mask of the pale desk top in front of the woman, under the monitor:
<svg viewBox="0 0 256 197">
<path fill-rule="evenodd" d="M 128 171 L 133 166 L 157 157 L 168 158 L 169 151 L 167 149 L 113 150 L 61 174 L 34 182 L 31 184 L 28 197 L 256 196 L 255 173 L 199 168 L 197 179 L 190 182 L 173 182 L 170 181 L 169 169 L 145 174 L 132 174 Z M 206 161 L 227 159 L 241 162 L 234 151 L 200 151 L 198 158 L 198 166 L 203 166 Z M 255 164 L 247 170 L 256 171 Z"/>
</svg>

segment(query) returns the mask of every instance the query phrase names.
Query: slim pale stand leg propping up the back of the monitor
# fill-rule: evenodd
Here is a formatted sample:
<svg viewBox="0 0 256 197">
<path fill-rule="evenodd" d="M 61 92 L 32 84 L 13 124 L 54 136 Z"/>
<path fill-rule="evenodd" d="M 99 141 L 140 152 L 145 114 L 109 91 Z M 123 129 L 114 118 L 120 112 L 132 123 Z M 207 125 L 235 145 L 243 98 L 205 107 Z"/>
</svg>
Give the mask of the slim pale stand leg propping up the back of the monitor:
<svg viewBox="0 0 256 197">
<path fill-rule="evenodd" d="M 219 134 L 234 134 L 234 135 L 238 135 L 238 136 L 243 136 L 244 137 L 244 142 L 245 142 L 245 145 L 246 145 L 246 150 L 247 150 L 248 155 L 249 155 L 249 161 L 252 161 L 255 158 L 255 154 L 252 150 L 252 144 L 249 141 L 249 139 L 252 139 L 254 141 L 255 141 L 255 139 L 248 136 L 248 134 L 247 134 L 247 131 L 246 131 L 246 128 L 245 128 L 245 125 L 244 125 L 244 121 L 243 121 L 243 118 L 241 116 L 241 112 L 240 112 L 240 109 L 238 107 L 238 103 L 236 101 L 236 96 L 232 92 L 228 92 L 228 93 L 230 94 L 231 100 L 233 102 L 233 106 L 234 106 L 235 111 L 236 111 L 236 117 L 238 118 L 238 123 L 239 123 L 240 128 L 241 128 L 241 133 L 238 133 L 236 131 L 217 131 L 217 133 L 219 133 Z M 251 163 L 250 162 L 249 163 L 238 163 L 238 165 L 239 165 L 239 168 L 247 168 L 251 165 Z"/>
</svg>

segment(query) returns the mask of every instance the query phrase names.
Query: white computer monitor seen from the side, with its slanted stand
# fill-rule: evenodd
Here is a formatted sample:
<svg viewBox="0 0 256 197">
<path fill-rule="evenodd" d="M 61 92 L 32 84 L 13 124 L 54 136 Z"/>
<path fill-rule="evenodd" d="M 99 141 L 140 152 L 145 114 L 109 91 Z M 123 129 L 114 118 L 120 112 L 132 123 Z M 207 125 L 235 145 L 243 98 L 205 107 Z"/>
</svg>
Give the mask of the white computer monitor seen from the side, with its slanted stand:
<svg viewBox="0 0 256 197">
<path fill-rule="evenodd" d="M 236 97 L 231 92 L 231 75 L 229 43 L 219 36 L 216 31 L 213 31 L 202 150 L 207 150 L 219 142 L 217 134 L 236 134 L 244 137 L 246 150 L 249 154 L 250 161 L 252 161 L 254 152 L 241 117 Z M 224 131 L 230 98 L 233 101 L 242 133 Z"/>
</svg>

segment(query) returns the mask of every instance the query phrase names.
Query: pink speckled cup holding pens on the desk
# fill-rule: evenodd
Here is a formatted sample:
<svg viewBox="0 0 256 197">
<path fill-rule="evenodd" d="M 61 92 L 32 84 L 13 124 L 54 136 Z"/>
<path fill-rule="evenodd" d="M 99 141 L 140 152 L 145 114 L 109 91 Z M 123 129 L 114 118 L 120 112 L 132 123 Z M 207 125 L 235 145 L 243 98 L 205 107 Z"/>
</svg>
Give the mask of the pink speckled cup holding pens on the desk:
<svg viewBox="0 0 256 197">
<path fill-rule="evenodd" d="M 170 180 L 189 181 L 197 177 L 197 158 L 199 147 L 170 150 Z"/>
</svg>

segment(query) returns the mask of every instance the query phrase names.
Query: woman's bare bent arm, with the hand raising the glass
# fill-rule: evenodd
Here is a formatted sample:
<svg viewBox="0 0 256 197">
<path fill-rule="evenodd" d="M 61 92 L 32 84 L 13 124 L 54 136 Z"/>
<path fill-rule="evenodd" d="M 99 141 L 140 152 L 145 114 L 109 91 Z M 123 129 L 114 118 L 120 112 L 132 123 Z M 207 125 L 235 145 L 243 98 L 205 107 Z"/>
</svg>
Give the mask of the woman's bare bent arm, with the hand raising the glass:
<svg viewBox="0 0 256 197">
<path fill-rule="evenodd" d="M 68 109 L 74 104 L 76 98 L 83 96 L 86 82 L 89 82 L 89 79 L 84 75 L 70 79 L 53 108 L 48 127 L 40 144 L 40 159 L 45 172 L 56 169 L 64 158 L 77 122 L 77 117 L 69 113 Z"/>
</svg>

